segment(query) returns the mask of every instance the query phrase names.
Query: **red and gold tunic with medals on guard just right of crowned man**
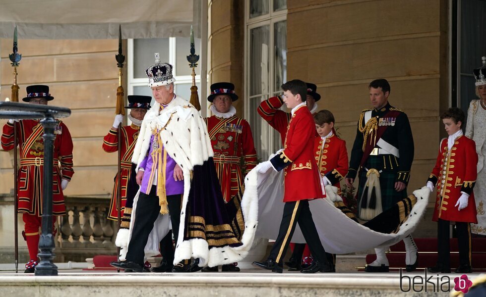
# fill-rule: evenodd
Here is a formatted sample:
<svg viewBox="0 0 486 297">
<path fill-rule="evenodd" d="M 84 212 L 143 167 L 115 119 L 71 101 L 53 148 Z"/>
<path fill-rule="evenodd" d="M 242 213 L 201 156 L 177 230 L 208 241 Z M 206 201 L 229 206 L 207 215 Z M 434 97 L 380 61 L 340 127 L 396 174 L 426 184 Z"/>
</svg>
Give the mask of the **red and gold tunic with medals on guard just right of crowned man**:
<svg viewBox="0 0 486 297">
<path fill-rule="evenodd" d="M 243 187 L 241 159 L 245 173 L 256 166 L 256 150 L 250 125 L 237 116 L 225 119 L 213 115 L 205 121 L 223 198 L 229 201 Z"/>
</svg>

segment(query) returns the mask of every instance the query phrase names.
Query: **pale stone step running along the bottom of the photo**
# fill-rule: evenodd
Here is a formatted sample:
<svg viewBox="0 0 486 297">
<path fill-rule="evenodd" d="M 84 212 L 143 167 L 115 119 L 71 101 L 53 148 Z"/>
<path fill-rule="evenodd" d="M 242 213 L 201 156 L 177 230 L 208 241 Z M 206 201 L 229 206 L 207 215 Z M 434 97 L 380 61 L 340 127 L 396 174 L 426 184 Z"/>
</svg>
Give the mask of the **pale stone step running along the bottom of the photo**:
<svg viewBox="0 0 486 297">
<path fill-rule="evenodd" d="M 41 296 L 178 296 L 178 297 L 286 297 L 286 296 L 410 296 L 410 280 L 416 276 L 424 278 L 424 273 L 315 273 L 305 275 L 284 271 L 283 274 L 264 270 L 240 273 L 62 273 L 58 276 L 24 274 L 2 274 L 0 292 L 2 297 Z M 421 286 L 414 287 L 427 296 L 445 296 L 454 291 L 454 278 L 458 274 L 444 274 L 435 286 L 422 279 Z M 474 282 L 479 274 L 468 274 Z M 424 285 L 425 284 L 425 285 Z M 407 291 L 408 290 L 408 291 Z"/>
</svg>

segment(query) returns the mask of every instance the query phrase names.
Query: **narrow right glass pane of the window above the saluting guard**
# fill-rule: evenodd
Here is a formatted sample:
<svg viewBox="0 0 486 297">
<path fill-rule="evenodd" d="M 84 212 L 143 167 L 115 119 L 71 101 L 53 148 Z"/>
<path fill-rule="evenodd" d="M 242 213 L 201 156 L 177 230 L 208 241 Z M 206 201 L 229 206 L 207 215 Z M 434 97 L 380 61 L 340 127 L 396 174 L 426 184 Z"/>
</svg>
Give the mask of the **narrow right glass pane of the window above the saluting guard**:
<svg viewBox="0 0 486 297">
<path fill-rule="evenodd" d="M 274 87 L 280 90 L 280 86 L 287 81 L 287 21 L 275 23 L 274 30 Z"/>
</svg>

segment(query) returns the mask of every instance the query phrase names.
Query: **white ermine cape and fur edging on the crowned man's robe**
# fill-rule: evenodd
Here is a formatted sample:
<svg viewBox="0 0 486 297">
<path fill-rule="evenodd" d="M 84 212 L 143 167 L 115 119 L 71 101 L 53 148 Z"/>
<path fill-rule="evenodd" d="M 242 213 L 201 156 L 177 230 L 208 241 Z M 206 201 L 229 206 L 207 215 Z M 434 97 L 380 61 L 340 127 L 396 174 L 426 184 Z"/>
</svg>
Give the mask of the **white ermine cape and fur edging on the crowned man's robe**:
<svg viewBox="0 0 486 297">
<path fill-rule="evenodd" d="M 227 246 L 208 250 L 208 245 L 205 240 L 191 239 L 184 241 L 184 210 L 186 209 L 189 197 L 191 170 L 193 170 L 194 166 L 202 165 L 209 157 L 212 157 L 213 150 L 204 119 L 189 102 L 180 97 L 176 97 L 160 114 L 159 110 L 160 104 L 155 103 L 145 115 L 134 148 L 132 162 L 140 164 L 149 151 L 152 129 L 165 127 L 165 129 L 160 131 L 164 148 L 171 158 L 181 166 L 184 176 L 184 193 L 182 196 L 182 211 L 180 216 L 181 223 L 179 225 L 179 240 L 176 243 L 174 264 L 191 257 L 199 258 L 199 266 L 215 266 L 240 261 L 250 249 L 256 231 L 258 217 L 256 171 L 253 173 L 250 172 L 245 178 L 245 192 L 241 202 L 245 221 L 245 231 L 242 236 L 243 246 Z M 167 126 L 165 126 L 166 124 Z M 136 170 L 138 170 L 138 167 Z M 134 200 L 132 223 L 134 221 L 135 203 L 136 201 Z"/>
</svg>

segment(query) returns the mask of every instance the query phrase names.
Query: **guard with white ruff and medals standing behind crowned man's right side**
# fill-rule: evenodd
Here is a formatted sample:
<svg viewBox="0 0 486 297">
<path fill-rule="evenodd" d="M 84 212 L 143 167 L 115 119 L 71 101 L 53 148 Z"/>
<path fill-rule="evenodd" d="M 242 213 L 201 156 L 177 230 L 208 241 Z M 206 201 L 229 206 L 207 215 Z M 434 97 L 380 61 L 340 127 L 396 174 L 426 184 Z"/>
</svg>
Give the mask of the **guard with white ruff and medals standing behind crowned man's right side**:
<svg viewBox="0 0 486 297">
<path fill-rule="evenodd" d="M 238 100 L 235 85 L 228 82 L 211 85 L 211 117 L 205 118 L 214 165 L 218 174 L 225 202 L 230 201 L 240 189 L 244 190 L 243 172 L 246 174 L 256 166 L 256 150 L 250 125 L 237 117 L 233 101 Z M 243 162 L 244 168 L 241 168 Z M 238 272 L 237 263 L 223 265 L 224 272 Z M 204 267 L 203 272 L 217 272 L 218 267 Z"/>
</svg>

